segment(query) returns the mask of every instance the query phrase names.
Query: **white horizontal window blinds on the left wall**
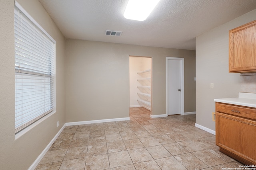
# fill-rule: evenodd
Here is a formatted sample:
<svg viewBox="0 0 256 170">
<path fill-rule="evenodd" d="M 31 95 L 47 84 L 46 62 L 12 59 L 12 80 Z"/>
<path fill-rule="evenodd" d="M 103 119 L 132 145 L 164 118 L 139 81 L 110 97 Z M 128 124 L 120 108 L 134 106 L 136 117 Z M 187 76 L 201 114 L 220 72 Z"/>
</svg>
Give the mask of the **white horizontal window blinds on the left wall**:
<svg viewBox="0 0 256 170">
<path fill-rule="evenodd" d="M 15 37 L 15 133 L 55 107 L 55 41 L 17 3 Z"/>
</svg>

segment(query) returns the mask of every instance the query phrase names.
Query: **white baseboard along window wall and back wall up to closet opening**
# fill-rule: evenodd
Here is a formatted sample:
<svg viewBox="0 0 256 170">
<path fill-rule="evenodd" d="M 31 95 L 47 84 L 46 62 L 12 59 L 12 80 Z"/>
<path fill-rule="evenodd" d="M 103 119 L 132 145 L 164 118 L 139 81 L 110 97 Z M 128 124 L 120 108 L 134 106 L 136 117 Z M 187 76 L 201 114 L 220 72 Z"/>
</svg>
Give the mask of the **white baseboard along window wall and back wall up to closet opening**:
<svg viewBox="0 0 256 170">
<path fill-rule="evenodd" d="M 117 118 L 117 119 L 103 119 L 103 120 L 93 120 L 93 121 L 77 121 L 77 122 L 69 122 L 65 123 L 62 128 L 58 131 L 58 133 L 54 136 L 54 138 L 50 141 L 50 143 L 46 146 L 46 148 L 42 151 L 42 153 L 36 158 L 36 160 L 33 162 L 33 164 L 28 168 L 28 170 L 34 170 L 38 163 L 42 160 L 46 152 L 50 149 L 54 141 L 58 138 L 60 133 L 63 131 L 63 129 L 66 126 L 70 125 L 84 125 L 84 124 L 90 124 L 90 123 L 104 123 L 104 122 L 111 122 L 111 121 L 126 121 L 130 120 L 130 117 L 124 117 L 124 118 Z"/>
</svg>

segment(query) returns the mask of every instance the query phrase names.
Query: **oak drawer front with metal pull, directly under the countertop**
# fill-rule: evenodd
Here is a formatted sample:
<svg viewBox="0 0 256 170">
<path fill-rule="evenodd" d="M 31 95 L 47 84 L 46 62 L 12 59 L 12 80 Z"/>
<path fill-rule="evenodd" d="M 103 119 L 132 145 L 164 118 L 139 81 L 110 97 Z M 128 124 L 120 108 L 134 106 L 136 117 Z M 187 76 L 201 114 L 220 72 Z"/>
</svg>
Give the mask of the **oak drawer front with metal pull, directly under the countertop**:
<svg viewBox="0 0 256 170">
<path fill-rule="evenodd" d="M 216 111 L 256 120 L 256 108 L 216 102 Z"/>
</svg>

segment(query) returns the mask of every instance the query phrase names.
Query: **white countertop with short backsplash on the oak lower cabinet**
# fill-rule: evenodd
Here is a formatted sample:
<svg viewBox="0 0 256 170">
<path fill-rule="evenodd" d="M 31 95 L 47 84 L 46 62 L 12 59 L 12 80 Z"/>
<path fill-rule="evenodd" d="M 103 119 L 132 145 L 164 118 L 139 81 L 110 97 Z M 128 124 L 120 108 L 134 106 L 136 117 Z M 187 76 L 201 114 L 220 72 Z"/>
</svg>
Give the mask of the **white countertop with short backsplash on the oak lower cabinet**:
<svg viewBox="0 0 256 170">
<path fill-rule="evenodd" d="M 223 98 L 214 99 L 214 102 L 235 104 L 247 107 L 256 107 L 256 94 L 255 93 L 239 93 L 238 98 Z"/>
</svg>

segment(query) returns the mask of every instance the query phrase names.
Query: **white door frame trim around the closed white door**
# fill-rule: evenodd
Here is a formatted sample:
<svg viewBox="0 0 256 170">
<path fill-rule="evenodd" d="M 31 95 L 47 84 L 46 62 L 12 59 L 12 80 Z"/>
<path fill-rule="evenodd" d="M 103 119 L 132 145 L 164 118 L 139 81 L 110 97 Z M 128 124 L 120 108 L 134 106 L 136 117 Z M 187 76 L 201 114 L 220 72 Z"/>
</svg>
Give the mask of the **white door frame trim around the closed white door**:
<svg viewBox="0 0 256 170">
<path fill-rule="evenodd" d="M 166 116 L 168 116 L 168 61 L 180 61 L 180 114 L 184 115 L 184 58 L 166 57 Z"/>
</svg>

